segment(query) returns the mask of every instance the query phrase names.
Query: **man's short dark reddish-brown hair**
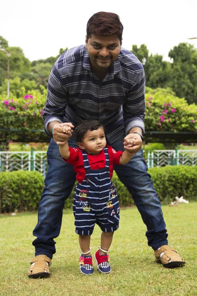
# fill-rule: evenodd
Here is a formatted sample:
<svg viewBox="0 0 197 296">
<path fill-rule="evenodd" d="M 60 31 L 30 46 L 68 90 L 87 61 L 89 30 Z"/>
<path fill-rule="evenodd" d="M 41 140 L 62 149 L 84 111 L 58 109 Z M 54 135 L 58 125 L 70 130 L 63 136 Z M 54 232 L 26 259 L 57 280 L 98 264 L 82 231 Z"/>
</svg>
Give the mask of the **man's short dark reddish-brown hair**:
<svg viewBox="0 0 197 296">
<path fill-rule="evenodd" d="M 87 23 L 86 32 L 88 39 L 91 34 L 104 36 L 117 34 L 121 41 L 123 24 L 116 13 L 100 11 L 91 16 Z"/>
</svg>

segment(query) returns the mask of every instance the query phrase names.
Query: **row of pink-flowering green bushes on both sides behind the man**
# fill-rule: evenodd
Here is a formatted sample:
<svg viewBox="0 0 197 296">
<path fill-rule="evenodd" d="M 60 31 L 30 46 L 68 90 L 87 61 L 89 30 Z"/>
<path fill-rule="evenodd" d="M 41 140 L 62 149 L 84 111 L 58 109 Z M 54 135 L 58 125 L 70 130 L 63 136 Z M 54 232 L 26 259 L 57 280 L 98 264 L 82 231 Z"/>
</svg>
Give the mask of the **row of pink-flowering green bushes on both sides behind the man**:
<svg viewBox="0 0 197 296">
<path fill-rule="evenodd" d="M 147 90 L 146 131 L 197 131 L 197 105 L 188 105 L 185 99 L 175 97 L 167 89 Z M 12 96 L 6 99 L 6 95 L 0 96 L 0 129 L 12 129 L 6 140 L 16 141 L 19 133 L 15 130 L 23 130 L 24 137 L 29 133 L 27 142 L 37 141 L 28 139 L 33 137 L 30 135 L 31 130 L 43 130 L 42 110 L 46 101 L 46 89 L 43 86 L 42 91 L 43 94 L 36 90 L 29 91 L 20 98 Z M 1 141 L 2 135 L 1 132 Z"/>
</svg>

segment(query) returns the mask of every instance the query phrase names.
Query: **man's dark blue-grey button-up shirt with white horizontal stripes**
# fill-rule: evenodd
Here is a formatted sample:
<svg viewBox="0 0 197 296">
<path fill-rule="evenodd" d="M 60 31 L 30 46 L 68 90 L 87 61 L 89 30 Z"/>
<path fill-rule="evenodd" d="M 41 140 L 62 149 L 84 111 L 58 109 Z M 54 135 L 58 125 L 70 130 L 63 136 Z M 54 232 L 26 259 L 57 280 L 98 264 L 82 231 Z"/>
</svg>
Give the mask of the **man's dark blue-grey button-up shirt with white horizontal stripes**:
<svg viewBox="0 0 197 296">
<path fill-rule="evenodd" d="M 66 50 L 51 71 L 43 110 L 44 129 L 49 137 L 50 122 L 98 119 L 109 143 L 133 127 L 144 133 L 145 74 L 142 64 L 121 48 L 118 59 L 100 81 L 93 73 L 85 45 Z"/>
</svg>

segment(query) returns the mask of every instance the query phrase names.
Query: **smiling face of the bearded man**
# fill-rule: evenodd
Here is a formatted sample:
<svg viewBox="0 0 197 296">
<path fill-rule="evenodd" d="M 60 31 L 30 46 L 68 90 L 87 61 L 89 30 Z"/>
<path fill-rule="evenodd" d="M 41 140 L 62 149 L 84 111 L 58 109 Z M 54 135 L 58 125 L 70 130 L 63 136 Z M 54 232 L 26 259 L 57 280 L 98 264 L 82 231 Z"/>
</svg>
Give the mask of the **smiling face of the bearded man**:
<svg viewBox="0 0 197 296">
<path fill-rule="evenodd" d="M 121 45 L 122 41 L 116 34 L 108 36 L 92 34 L 89 39 L 86 37 L 86 49 L 93 69 L 109 68 L 117 60 Z"/>
</svg>

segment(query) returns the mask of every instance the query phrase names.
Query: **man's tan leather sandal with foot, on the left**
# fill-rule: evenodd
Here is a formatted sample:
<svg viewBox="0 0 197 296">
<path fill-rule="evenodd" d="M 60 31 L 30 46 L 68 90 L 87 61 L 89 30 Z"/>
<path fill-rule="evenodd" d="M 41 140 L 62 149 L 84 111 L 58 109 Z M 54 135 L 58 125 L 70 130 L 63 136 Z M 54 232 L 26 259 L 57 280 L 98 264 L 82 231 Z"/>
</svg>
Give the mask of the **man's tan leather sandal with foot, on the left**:
<svg viewBox="0 0 197 296">
<path fill-rule="evenodd" d="M 31 261 L 31 266 L 28 270 L 28 276 L 30 278 L 46 278 L 50 276 L 49 266 L 51 265 L 51 259 L 46 255 L 38 255 Z"/>
</svg>

